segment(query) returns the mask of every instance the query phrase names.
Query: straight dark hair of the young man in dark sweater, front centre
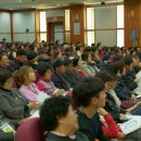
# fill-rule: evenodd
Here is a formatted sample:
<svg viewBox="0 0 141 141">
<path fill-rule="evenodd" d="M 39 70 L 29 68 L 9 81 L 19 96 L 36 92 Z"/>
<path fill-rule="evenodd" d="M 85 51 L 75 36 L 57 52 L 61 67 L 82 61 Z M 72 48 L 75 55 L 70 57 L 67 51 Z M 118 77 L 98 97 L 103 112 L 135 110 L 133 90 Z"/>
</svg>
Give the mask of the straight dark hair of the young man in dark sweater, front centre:
<svg viewBox="0 0 141 141">
<path fill-rule="evenodd" d="M 74 103 L 78 106 L 88 106 L 91 99 L 99 98 L 99 92 L 102 90 L 104 90 L 104 82 L 100 78 L 87 77 L 74 88 Z"/>
</svg>

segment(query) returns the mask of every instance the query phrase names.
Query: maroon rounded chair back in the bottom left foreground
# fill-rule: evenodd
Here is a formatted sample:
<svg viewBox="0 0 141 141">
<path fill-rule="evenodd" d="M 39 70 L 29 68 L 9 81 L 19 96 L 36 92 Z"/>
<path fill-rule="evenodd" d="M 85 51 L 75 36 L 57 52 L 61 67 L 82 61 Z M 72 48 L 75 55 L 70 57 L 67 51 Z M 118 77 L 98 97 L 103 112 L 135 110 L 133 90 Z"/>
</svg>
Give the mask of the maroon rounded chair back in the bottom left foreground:
<svg viewBox="0 0 141 141">
<path fill-rule="evenodd" d="M 16 141 L 44 141 L 44 130 L 38 117 L 31 118 L 18 127 Z"/>
</svg>

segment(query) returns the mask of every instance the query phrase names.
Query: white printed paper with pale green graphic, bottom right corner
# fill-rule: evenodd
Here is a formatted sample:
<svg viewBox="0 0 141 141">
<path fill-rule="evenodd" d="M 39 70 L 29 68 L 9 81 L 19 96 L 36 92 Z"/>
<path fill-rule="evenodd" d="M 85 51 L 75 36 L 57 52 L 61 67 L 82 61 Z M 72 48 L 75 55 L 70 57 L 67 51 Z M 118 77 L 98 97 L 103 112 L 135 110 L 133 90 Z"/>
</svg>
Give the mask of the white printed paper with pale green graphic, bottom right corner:
<svg viewBox="0 0 141 141">
<path fill-rule="evenodd" d="M 141 116 L 133 117 L 132 119 L 121 124 L 120 128 L 126 134 L 138 130 L 141 128 Z"/>
</svg>

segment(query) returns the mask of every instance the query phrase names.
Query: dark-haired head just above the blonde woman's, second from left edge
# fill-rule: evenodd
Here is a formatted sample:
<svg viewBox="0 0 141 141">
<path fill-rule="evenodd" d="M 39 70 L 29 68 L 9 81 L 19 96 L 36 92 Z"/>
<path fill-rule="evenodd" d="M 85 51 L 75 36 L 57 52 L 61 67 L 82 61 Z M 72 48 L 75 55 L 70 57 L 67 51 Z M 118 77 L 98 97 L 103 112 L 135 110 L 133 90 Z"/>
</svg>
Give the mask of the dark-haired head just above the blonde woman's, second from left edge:
<svg viewBox="0 0 141 141">
<path fill-rule="evenodd" d="M 27 53 L 24 49 L 18 49 L 16 51 L 16 61 L 24 64 L 27 61 Z"/>
</svg>

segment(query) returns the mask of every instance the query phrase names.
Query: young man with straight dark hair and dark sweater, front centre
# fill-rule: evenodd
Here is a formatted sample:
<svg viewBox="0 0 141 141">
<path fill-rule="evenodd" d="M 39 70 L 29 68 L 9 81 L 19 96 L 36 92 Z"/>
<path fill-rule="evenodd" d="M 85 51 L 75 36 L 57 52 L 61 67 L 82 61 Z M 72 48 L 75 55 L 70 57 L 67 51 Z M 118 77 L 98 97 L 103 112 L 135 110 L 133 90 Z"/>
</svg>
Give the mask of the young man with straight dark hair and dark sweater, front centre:
<svg viewBox="0 0 141 141">
<path fill-rule="evenodd" d="M 100 78 L 88 77 L 74 88 L 74 104 L 79 108 L 78 125 L 79 130 L 85 133 L 90 141 L 111 141 L 102 131 L 98 110 L 105 105 L 104 84 Z"/>
</svg>

